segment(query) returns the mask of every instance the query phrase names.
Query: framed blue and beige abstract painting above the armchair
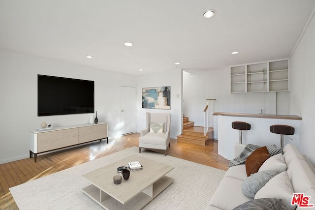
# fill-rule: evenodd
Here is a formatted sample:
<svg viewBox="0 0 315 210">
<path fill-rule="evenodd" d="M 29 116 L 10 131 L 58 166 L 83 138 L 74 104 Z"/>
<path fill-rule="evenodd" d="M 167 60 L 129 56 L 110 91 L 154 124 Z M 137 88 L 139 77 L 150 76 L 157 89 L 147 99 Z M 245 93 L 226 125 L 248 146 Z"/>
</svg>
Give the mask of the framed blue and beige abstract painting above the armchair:
<svg viewBox="0 0 315 210">
<path fill-rule="evenodd" d="M 142 108 L 171 109 L 171 87 L 142 88 Z"/>
</svg>

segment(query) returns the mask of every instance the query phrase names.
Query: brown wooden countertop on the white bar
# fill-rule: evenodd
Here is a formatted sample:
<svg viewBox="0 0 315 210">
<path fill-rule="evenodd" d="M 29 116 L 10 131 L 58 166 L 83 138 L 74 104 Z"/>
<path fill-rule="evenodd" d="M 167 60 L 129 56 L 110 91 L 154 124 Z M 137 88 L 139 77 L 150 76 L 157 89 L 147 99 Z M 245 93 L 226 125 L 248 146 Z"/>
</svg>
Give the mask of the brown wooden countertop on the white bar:
<svg viewBox="0 0 315 210">
<path fill-rule="evenodd" d="M 215 112 L 213 115 L 231 116 L 231 117 L 246 117 L 246 118 L 269 118 L 269 119 L 286 119 L 286 120 L 302 120 L 296 115 L 267 115 L 267 114 L 246 114 L 246 113 L 228 113 Z"/>
</svg>

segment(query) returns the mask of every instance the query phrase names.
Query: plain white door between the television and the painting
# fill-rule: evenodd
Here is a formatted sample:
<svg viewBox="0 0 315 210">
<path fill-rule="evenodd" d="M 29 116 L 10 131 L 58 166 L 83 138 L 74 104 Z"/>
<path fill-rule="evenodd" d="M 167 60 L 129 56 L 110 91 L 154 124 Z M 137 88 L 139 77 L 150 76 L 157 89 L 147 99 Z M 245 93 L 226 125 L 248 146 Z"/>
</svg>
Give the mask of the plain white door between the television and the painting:
<svg viewBox="0 0 315 210">
<path fill-rule="evenodd" d="M 121 110 L 120 110 L 121 134 L 136 132 L 136 89 L 133 87 L 121 87 Z"/>
</svg>

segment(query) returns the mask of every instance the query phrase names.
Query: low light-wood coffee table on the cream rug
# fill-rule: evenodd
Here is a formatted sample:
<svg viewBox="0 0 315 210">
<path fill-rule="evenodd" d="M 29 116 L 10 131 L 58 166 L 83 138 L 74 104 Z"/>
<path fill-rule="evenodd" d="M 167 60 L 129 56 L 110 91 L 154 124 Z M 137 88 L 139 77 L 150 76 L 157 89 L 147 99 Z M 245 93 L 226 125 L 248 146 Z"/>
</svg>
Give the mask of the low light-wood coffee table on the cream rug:
<svg viewBox="0 0 315 210">
<path fill-rule="evenodd" d="M 126 166 L 131 161 L 139 161 L 143 169 L 130 171 L 128 180 L 124 180 L 121 175 L 122 183 L 114 184 L 113 177 L 119 175 L 117 168 Z M 165 176 L 173 168 L 139 155 L 132 155 L 84 174 L 83 177 L 92 184 L 82 190 L 108 210 L 142 209 L 174 181 Z"/>
</svg>

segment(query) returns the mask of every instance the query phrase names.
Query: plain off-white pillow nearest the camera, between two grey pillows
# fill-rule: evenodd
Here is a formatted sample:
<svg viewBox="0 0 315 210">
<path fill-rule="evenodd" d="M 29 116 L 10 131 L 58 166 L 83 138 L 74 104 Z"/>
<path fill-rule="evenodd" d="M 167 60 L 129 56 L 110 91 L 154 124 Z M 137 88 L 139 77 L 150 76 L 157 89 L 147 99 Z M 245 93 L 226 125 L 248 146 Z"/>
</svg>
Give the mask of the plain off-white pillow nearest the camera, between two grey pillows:
<svg viewBox="0 0 315 210">
<path fill-rule="evenodd" d="M 295 210 L 296 205 L 292 206 L 293 187 L 286 171 L 278 174 L 269 180 L 256 193 L 254 199 L 258 198 L 278 198 L 282 199 L 284 209 Z"/>
</svg>

